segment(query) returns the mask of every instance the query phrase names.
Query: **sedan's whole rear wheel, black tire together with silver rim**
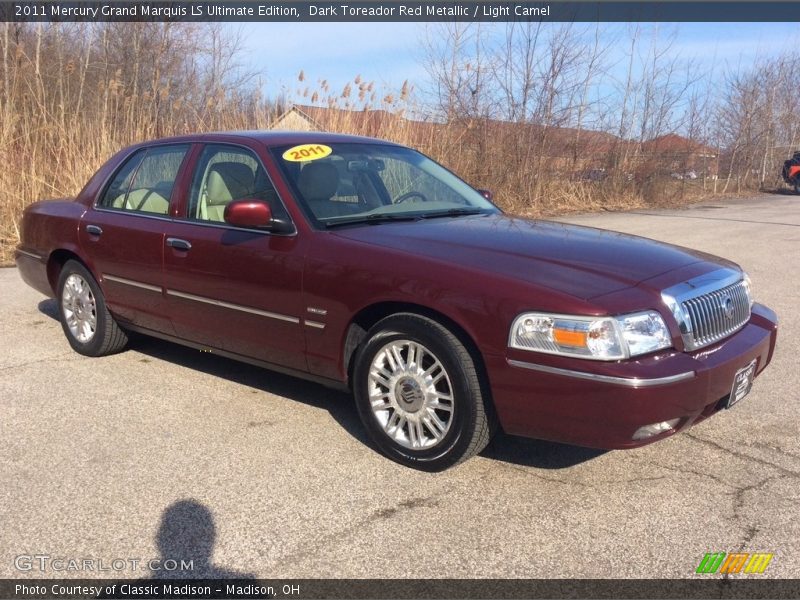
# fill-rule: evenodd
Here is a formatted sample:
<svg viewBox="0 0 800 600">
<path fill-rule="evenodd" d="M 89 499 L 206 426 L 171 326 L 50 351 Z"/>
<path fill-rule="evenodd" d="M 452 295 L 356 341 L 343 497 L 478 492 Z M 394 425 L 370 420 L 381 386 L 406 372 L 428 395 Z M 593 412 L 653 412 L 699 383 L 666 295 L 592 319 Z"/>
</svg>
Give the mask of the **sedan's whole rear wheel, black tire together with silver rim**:
<svg viewBox="0 0 800 600">
<path fill-rule="evenodd" d="M 82 296 L 84 300 L 88 301 L 83 302 L 81 306 L 77 306 L 71 300 L 76 296 L 74 293 L 76 288 L 72 284 L 78 282 L 78 280 L 85 282 L 88 287 L 85 296 Z M 70 290 L 65 291 L 68 281 L 70 282 Z M 82 285 L 80 289 L 84 289 Z M 56 293 L 61 327 L 64 330 L 64 335 L 67 336 L 69 345 L 76 352 L 85 356 L 106 356 L 125 348 L 128 343 L 127 334 L 120 328 L 111 313 L 108 312 L 100 286 L 89 270 L 81 263 L 76 260 L 69 260 L 64 264 L 58 278 Z M 85 319 L 75 316 L 78 314 L 81 317 L 85 317 Z M 92 317 L 93 328 L 90 325 Z M 78 324 L 76 325 L 78 328 L 77 333 L 71 330 L 70 322 Z"/>
</svg>

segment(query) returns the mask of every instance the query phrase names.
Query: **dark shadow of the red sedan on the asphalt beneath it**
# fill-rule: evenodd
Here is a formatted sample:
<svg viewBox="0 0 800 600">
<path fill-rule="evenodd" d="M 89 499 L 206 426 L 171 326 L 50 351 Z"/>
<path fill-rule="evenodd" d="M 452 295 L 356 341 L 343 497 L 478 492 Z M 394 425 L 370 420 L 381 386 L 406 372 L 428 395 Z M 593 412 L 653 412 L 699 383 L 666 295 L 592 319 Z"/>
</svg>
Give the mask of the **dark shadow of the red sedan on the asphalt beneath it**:
<svg viewBox="0 0 800 600">
<path fill-rule="evenodd" d="M 58 304 L 52 298 L 42 300 L 38 308 L 42 314 L 58 320 Z M 150 358 L 174 363 L 268 394 L 327 410 L 353 438 L 378 451 L 367 435 L 358 417 L 353 398 L 348 393 L 210 352 L 198 352 L 180 344 L 146 335 L 131 336 L 129 348 Z M 605 452 L 605 450 L 533 440 L 498 432 L 480 455 L 492 460 L 538 469 L 566 469 L 592 460 Z"/>
</svg>

